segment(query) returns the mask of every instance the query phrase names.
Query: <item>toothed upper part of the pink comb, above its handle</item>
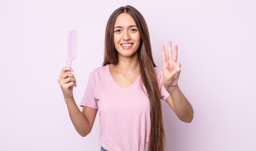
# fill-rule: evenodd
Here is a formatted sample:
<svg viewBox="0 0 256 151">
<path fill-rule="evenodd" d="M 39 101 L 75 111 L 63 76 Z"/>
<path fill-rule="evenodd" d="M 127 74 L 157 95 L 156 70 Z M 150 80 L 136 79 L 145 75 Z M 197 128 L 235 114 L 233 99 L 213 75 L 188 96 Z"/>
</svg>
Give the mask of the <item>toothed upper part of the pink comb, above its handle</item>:
<svg viewBox="0 0 256 151">
<path fill-rule="evenodd" d="M 77 56 L 77 30 L 70 30 L 68 33 L 68 57 L 72 59 Z"/>
</svg>

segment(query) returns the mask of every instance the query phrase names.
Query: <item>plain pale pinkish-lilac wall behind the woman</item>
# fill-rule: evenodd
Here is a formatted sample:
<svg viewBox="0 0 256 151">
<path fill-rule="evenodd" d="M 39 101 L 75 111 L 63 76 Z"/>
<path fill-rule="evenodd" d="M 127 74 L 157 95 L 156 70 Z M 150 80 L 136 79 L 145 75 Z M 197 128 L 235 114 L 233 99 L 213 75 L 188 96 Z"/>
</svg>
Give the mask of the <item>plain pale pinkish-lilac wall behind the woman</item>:
<svg viewBox="0 0 256 151">
<path fill-rule="evenodd" d="M 67 31 L 78 29 L 79 104 L 103 62 L 107 20 L 126 4 L 144 15 L 158 66 L 162 43 L 179 46 L 179 85 L 195 114 L 186 124 L 163 103 L 166 151 L 255 151 L 254 0 L 1 0 L 0 150 L 99 151 L 98 115 L 88 136 L 76 133 L 57 79 Z"/>
</svg>

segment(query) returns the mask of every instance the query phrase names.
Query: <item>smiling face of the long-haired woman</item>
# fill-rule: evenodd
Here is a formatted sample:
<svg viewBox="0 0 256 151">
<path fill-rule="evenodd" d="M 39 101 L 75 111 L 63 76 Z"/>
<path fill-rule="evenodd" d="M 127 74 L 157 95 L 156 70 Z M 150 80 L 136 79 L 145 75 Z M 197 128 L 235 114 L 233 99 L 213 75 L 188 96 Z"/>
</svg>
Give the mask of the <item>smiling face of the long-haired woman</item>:
<svg viewBox="0 0 256 151">
<path fill-rule="evenodd" d="M 118 57 L 134 57 L 138 55 L 140 36 L 132 16 L 121 13 L 117 16 L 114 26 L 114 46 Z"/>
</svg>

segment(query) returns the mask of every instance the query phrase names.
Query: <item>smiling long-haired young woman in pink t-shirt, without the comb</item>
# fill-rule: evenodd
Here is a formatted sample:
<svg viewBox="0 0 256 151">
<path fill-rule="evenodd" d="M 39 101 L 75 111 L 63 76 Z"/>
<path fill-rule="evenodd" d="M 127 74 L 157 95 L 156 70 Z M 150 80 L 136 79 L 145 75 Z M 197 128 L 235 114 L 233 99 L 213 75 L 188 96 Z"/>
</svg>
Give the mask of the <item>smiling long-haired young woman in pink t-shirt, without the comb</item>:
<svg viewBox="0 0 256 151">
<path fill-rule="evenodd" d="M 184 122 L 193 108 L 178 87 L 177 45 L 168 58 L 162 45 L 163 67 L 156 67 L 146 22 L 134 7 L 115 10 L 108 20 L 103 67 L 92 71 L 80 106 L 73 97 L 76 79 L 64 67 L 58 79 L 76 131 L 90 133 L 97 111 L 102 151 L 164 151 L 165 136 L 160 99 L 166 100 Z"/>
</svg>

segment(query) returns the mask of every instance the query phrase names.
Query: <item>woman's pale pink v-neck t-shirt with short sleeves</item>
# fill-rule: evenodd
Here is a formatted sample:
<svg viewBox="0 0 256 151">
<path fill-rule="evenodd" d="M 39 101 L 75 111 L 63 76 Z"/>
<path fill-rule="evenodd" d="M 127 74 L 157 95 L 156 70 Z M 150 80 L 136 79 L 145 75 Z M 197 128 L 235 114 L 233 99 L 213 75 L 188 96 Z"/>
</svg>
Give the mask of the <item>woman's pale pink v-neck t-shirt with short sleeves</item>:
<svg viewBox="0 0 256 151">
<path fill-rule="evenodd" d="M 108 151 L 145 151 L 150 133 L 150 103 L 141 89 L 141 78 L 124 89 L 115 83 L 108 67 L 90 73 L 80 106 L 98 109 L 101 147 Z M 155 67 L 155 71 L 159 95 L 166 100 L 169 93 L 162 86 L 162 68 Z"/>
</svg>

